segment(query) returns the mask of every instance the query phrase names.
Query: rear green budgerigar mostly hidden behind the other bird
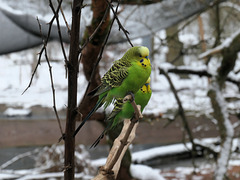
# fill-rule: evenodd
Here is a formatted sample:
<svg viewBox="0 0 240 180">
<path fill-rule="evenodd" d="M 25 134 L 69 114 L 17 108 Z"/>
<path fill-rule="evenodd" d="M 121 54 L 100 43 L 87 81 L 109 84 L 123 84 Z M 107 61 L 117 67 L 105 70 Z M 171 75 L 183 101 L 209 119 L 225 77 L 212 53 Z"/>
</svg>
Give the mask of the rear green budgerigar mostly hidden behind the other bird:
<svg viewBox="0 0 240 180">
<path fill-rule="evenodd" d="M 138 90 L 135 94 L 136 104 L 141 106 L 141 112 L 148 104 L 152 95 L 152 90 L 150 88 L 150 78 L 147 82 Z M 134 109 L 132 104 L 128 101 L 123 103 L 123 98 L 118 98 L 114 103 L 114 109 L 111 114 L 106 119 L 107 127 L 104 129 L 102 134 L 97 138 L 97 140 L 92 144 L 91 147 L 96 147 L 104 135 L 111 129 L 114 129 L 120 122 L 124 119 L 131 119 L 134 116 Z"/>
</svg>

